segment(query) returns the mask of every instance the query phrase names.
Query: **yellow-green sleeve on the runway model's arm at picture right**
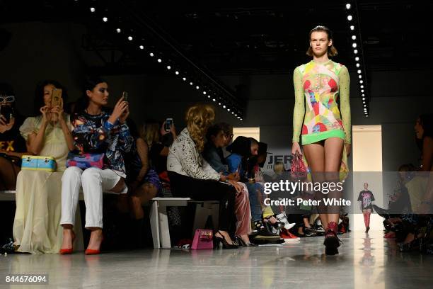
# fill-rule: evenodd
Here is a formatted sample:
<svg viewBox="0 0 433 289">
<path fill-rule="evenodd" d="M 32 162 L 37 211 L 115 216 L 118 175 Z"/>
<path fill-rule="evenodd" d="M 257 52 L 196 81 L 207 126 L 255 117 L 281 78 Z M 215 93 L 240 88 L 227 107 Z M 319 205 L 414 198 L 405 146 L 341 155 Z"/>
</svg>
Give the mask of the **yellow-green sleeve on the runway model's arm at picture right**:
<svg viewBox="0 0 433 289">
<path fill-rule="evenodd" d="M 352 124 L 350 123 L 350 76 L 347 67 L 340 69 L 340 110 L 343 128 L 345 129 L 345 142 L 352 143 Z"/>
</svg>

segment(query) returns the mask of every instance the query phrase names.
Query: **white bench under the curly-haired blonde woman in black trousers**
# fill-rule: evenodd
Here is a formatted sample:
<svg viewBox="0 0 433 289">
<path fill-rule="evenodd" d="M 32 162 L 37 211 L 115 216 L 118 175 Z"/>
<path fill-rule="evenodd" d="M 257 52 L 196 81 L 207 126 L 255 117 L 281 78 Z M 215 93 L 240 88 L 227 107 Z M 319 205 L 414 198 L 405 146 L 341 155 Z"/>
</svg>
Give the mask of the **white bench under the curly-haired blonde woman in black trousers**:
<svg viewBox="0 0 433 289">
<path fill-rule="evenodd" d="M 212 216 L 214 228 L 218 227 L 219 202 L 216 200 L 192 200 L 191 198 L 153 198 L 151 200 L 150 223 L 155 249 L 171 249 L 170 230 L 168 229 L 167 207 L 186 207 L 188 203 L 196 203 L 195 229 L 204 228 L 207 217 Z"/>
</svg>

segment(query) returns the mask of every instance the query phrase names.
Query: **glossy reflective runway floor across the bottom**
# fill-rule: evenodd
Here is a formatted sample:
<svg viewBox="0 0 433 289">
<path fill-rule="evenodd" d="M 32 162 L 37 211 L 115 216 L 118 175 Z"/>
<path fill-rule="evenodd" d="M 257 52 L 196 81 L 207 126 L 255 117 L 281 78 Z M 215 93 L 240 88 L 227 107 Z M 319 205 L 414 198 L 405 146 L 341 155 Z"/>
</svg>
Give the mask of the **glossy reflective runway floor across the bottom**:
<svg viewBox="0 0 433 289">
<path fill-rule="evenodd" d="M 337 256 L 323 254 L 323 237 L 237 250 L 10 254 L 0 256 L 0 275 L 48 273 L 52 288 L 426 288 L 433 283 L 433 256 L 400 254 L 380 231 L 341 239 Z M 8 288 L 4 280 L 0 288 Z"/>
</svg>

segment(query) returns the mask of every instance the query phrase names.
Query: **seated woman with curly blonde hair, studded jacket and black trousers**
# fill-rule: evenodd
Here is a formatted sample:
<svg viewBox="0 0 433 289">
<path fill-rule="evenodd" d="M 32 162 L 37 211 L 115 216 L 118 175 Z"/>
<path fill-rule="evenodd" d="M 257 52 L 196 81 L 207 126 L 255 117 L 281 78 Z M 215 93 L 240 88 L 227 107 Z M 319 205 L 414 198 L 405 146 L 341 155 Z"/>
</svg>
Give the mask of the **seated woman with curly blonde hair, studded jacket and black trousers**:
<svg viewBox="0 0 433 289">
<path fill-rule="evenodd" d="M 238 245 L 233 243 L 229 230 L 235 222 L 236 191 L 240 192 L 242 188 L 224 174 L 204 171 L 202 167 L 204 137 L 214 118 L 212 106 L 198 104 L 188 108 L 185 118 L 187 127 L 176 137 L 168 153 L 168 178 L 173 196 L 219 200 L 219 229 L 215 237 L 224 248 L 234 249 Z"/>
</svg>

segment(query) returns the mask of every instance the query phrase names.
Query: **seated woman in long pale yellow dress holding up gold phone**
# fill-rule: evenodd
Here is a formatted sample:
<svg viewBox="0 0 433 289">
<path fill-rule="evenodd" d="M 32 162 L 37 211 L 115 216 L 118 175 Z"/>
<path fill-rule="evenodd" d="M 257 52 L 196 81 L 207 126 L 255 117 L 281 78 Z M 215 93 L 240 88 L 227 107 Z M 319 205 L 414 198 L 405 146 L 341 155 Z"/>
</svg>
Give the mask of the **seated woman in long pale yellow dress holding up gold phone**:
<svg viewBox="0 0 433 289">
<path fill-rule="evenodd" d="M 26 118 L 20 132 L 28 151 L 35 155 L 54 157 L 57 171 L 21 170 L 16 181 L 16 213 L 13 238 L 18 251 L 26 253 L 57 253 L 62 244 L 59 227 L 62 174 L 67 154 L 74 148 L 69 115 L 60 106 L 51 106 L 53 89 L 66 91 L 57 81 L 43 81 L 35 94 L 35 111 Z"/>
</svg>

